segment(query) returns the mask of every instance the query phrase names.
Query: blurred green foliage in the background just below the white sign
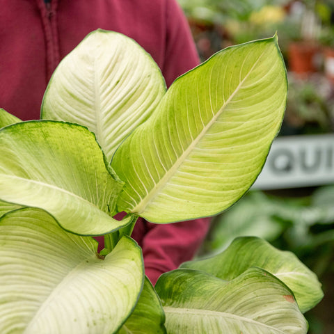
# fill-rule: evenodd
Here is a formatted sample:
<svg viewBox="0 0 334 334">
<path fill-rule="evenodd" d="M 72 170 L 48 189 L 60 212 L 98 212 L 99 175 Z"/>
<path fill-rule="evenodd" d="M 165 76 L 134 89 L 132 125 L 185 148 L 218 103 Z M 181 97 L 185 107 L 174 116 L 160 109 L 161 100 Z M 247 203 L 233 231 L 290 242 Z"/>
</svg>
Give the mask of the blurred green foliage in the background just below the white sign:
<svg viewBox="0 0 334 334">
<path fill-rule="evenodd" d="M 248 235 L 292 250 L 305 261 L 308 250 L 334 240 L 333 200 L 334 186 L 323 186 L 302 198 L 279 198 L 252 190 L 215 218 L 203 251 L 218 253 L 234 238 Z M 321 262 L 318 257 L 317 262 Z M 315 263 L 312 269 L 321 274 Z"/>
</svg>

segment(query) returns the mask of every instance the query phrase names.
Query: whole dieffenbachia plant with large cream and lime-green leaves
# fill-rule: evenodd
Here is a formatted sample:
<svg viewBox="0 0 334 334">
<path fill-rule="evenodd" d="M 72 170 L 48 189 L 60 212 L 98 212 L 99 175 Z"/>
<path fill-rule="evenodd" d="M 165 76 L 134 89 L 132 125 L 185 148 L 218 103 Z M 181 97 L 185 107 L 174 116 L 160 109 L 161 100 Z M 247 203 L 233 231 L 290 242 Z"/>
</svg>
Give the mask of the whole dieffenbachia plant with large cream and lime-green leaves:
<svg viewBox="0 0 334 334">
<path fill-rule="evenodd" d="M 0 110 L 0 333 L 306 333 L 322 292 L 292 254 L 237 239 L 155 290 L 130 237 L 138 216 L 191 220 L 239 200 L 286 98 L 276 36 L 220 51 L 166 91 L 136 42 L 90 33 L 54 72 L 42 120 Z"/>
</svg>

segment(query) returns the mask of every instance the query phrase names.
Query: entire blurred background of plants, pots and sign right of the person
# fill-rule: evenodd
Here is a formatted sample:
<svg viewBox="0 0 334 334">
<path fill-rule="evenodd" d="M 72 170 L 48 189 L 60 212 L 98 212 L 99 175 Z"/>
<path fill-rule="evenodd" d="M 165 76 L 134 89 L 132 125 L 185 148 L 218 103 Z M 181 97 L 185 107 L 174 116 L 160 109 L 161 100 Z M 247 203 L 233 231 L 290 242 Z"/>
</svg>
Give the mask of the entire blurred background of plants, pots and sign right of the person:
<svg viewBox="0 0 334 334">
<path fill-rule="evenodd" d="M 334 333 L 334 0 L 178 0 L 201 60 L 230 45 L 269 38 L 287 66 L 280 134 L 257 182 L 214 218 L 201 257 L 241 235 L 294 252 L 323 284 L 305 314 L 310 334 Z"/>
</svg>

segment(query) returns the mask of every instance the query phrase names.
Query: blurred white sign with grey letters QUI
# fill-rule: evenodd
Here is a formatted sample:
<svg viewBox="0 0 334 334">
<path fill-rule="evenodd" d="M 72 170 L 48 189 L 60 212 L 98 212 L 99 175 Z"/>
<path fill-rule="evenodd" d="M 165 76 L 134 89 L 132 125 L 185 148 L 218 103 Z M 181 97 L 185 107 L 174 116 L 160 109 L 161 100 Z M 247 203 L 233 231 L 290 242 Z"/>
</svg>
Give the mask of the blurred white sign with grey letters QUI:
<svg viewBox="0 0 334 334">
<path fill-rule="evenodd" d="M 323 184 L 334 184 L 334 134 L 276 138 L 253 188 Z"/>
</svg>

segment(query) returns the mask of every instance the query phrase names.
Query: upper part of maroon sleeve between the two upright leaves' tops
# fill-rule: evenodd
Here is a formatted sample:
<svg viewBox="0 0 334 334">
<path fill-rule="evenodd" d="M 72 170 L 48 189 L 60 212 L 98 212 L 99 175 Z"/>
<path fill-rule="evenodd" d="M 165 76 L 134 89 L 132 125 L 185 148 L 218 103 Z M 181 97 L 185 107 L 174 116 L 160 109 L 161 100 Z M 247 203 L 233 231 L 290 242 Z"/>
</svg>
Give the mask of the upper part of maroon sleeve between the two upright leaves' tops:
<svg viewBox="0 0 334 334">
<path fill-rule="evenodd" d="M 196 45 L 182 9 L 175 0 L 166 0 L 166 41 L 161 70 L 167 86 L 199 63 Z"/>
</svg>

